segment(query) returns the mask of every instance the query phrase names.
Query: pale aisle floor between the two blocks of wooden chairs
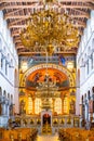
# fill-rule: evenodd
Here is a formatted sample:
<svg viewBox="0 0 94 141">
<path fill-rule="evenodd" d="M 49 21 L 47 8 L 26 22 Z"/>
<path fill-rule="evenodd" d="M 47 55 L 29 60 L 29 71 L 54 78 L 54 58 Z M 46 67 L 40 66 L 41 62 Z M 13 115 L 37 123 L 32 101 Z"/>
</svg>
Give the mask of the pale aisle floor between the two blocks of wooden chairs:
<svg viewBox="0 0 94 141">
<path fill-rule="evenodd" d="M 39 134 L 37 141 L 58 141 L 57 134 Z"/>
</svg>

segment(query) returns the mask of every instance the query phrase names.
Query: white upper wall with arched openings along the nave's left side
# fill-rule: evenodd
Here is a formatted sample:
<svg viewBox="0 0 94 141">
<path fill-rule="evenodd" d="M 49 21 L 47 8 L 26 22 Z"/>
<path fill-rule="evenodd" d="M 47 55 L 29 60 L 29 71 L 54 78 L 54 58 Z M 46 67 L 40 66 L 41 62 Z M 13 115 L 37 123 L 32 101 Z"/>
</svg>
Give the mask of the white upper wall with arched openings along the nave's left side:
<svg viewBox="0 0 94 141">
<path fill-rule="evenodd" d="M 3 67 L 1 66 L 3 59 Z M 6 73 L 5 73 L 6 63 Z M 16 77 L 15 77 L 16 69 Z M 17 80 L 15 80 L 17 79 Z M 16 81 L 16 84 L 15 84 Z M 0 11 L 0 88 L 13 97 L 15 113 L 18 113 L 18 55 L 13 43 L 13 38 L 8 29 L 3 13 Z"/>
</svg>

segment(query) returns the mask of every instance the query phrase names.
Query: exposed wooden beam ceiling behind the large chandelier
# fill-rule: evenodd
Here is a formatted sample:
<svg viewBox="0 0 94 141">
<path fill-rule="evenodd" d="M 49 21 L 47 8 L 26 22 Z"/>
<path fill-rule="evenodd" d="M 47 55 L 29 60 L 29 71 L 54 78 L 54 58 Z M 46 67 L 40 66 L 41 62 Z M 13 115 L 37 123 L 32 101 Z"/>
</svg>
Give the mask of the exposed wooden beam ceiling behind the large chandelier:
<svg viewBox="0 0 94 141">
<path fill-rule="evenodd" d="M 33 9 L 42 9 L 44 0 L 0 0 L 0 10 L 3 11 L 4 20 L 8 22 L 8 27 L 11 30 L 14 39 L 15 48 L 18 54 L 30 53 L 23 47 L 19 39 L 19 31 L 26 26 L 27 18 L 32 13 Z M 62 9 L 66 9 L 72 20 L 78 23 L 79 30 L 82 35 L 86 26 L 86 21 L 90 18 L 91 10 L 94 10 L 94 0 L 54 0 L 53 4 L 57 4 Z M 76 52 L 71 50 L 70 53 Z M 35 53 L 35 52 L 33 52 Z M 59 53 L 59 52 L 58 52 Z"/>
</svg>

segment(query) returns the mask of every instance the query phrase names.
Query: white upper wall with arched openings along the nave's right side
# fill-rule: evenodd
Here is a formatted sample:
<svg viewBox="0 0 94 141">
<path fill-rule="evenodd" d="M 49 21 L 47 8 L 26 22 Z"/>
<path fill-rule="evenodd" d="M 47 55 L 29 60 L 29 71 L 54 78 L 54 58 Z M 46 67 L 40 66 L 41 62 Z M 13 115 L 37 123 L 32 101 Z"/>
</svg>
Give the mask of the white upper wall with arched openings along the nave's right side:
<svg viewBox="0 0 94 141">
<path fill-rule="evenodd" d="M 82 95 L 91 91 L 92 99 L 92 88 L 94 87 L 94 11 L 91 12 L 91 17 L 86 22 L 86 28 L 81 37 L 81 42 L 79 44 L 77 53 L 77 72 L 80 69 L 80 86 L 77 89 L 77 115 L 80 114 L 80 104 Z M 78 76 L 78 74 L 77 74 Z M 77 81 L 78 86 L 78 81 Z M 80 92 L 80 93 L 79 93 Z"/>
</svg>

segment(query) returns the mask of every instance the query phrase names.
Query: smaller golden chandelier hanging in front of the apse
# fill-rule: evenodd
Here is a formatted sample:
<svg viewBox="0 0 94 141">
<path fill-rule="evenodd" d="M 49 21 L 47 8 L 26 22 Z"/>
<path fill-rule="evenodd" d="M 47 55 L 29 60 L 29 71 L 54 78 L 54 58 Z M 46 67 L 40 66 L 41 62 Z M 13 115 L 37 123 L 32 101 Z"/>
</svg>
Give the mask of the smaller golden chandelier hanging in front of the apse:
<svg viewBox="0 0 94 141">
<path fill-rule="evenodd" d="M 39 87 L 37 87 L 36 98 L 40 98 L 42 100 L 41 108 L 51 110 L 52 103 L 51 99 L 59 98 L 58 87 L 56 82 L 50 80 L 50 75 L 45 74 L 45 81 L 39 82 Z"/>
</svg>

